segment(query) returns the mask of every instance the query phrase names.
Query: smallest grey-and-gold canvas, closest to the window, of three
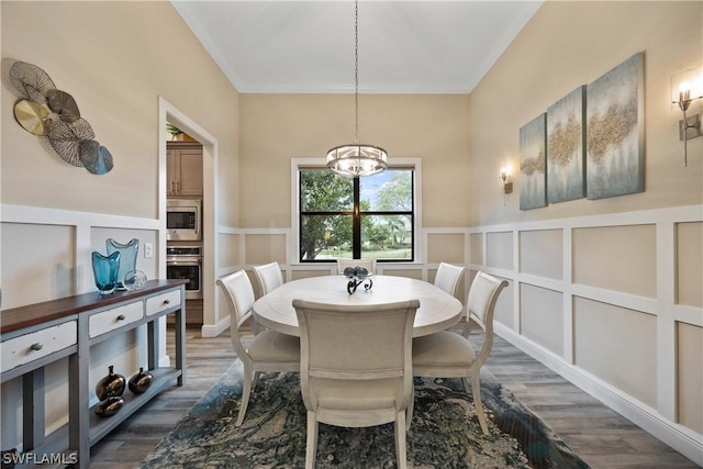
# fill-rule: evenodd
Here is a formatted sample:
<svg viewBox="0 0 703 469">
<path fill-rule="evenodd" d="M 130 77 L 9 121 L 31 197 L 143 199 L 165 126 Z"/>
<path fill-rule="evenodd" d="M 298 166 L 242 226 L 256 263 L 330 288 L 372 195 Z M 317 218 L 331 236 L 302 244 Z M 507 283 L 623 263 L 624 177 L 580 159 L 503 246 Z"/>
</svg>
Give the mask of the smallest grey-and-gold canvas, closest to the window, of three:
<svg viewBox="0 0 703 469">
<path fill-rule="evenodd" d="M 520 129 L 520 210 L 547 205 L 547 114 Z"/>
</svg>

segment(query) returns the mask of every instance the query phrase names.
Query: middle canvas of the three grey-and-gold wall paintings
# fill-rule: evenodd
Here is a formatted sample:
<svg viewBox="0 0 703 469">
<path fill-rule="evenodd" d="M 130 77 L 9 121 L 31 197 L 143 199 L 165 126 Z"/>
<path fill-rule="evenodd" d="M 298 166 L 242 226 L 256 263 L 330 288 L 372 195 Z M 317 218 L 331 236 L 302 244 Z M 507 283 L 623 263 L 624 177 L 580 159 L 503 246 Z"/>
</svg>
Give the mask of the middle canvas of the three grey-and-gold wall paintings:
<svg viewBox="0 0 703 469">
<path fill-rule="evenodd" d="M 581 199 L 585 196 L 584 101 L 579 87 L 547 109 L 547 201 Z"/>
</svg>

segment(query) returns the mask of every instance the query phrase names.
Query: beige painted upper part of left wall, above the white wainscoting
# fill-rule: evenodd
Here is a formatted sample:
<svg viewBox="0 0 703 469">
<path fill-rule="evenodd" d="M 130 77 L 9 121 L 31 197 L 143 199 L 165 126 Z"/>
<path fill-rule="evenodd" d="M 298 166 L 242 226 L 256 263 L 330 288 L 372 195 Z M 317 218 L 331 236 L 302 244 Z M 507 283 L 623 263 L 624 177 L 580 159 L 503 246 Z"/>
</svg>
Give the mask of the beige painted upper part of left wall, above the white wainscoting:
<svg viewBox="0 0 703 469">
<path fill-rule="evenodd" d="M 221 160 L 236 158 L 237 93 L 168 2 L 3 1 L 2 57 L 44 69 L 114 159 L 97 177 L 51 156 L 3 87 L 3 203 L 155 217 L 158 97 L 219 138 Z"/>
</svg>

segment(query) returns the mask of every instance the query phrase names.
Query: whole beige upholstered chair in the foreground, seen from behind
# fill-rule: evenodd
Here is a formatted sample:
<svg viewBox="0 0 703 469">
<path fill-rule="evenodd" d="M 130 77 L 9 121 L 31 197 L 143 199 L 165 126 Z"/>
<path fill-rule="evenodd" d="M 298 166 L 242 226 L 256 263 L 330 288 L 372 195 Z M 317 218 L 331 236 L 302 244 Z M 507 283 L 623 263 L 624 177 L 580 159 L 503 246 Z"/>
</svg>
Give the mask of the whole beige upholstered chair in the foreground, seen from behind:
<svg viewBox="0 0 703 469">
<path fill-rule="evenodd" d="M 411 345 L 419 300 L 331 305 L 293 300 L 300 382 L 308 410 L 305 468 L 314 468 L 319 424 L 395 424 L 398 467 L 408 465 L 405 413 L 412 399 Z"/>
</svg>

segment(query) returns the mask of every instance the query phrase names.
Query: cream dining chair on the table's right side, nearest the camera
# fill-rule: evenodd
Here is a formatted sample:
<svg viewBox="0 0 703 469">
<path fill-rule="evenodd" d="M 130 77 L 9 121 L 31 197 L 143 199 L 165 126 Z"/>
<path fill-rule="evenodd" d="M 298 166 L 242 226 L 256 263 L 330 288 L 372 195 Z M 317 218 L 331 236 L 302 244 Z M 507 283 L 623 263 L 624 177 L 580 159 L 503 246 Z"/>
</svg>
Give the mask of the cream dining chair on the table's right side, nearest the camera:
<svg viewBox="0 0 703 469">
<path fill-rule="evenodd" d="M 426 378 L 461 378 L 468 392 L 471 379 L 473 405 L 481 431 L 488 436 L 488 424 L 481 403 L 480 371 L 493 347 L 493 310 L 505 280 L 499 280 L 479 271 L 471 283 L 467 299 L 467 321 L 476 323 L 484 332 L 483 346 L 477 355 L 468 336 L 442 331 L 413 339 L 413 375 Z M 465 328 L 468 332 L 468 328 Z M 413 415 L 414 403 L 408 411 L 408 427 Z"/>
</svg>

